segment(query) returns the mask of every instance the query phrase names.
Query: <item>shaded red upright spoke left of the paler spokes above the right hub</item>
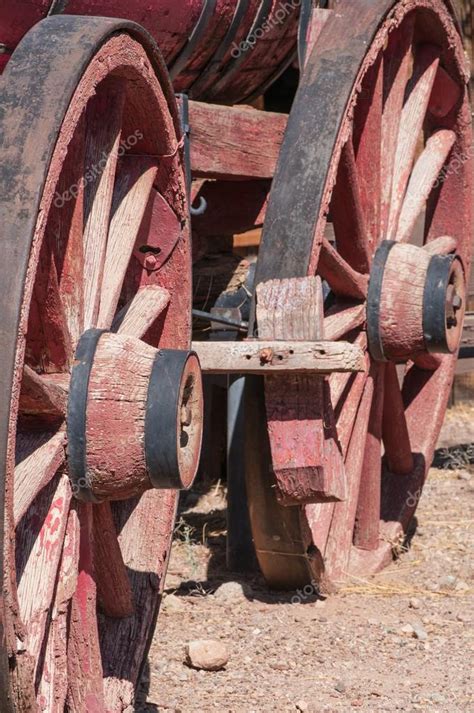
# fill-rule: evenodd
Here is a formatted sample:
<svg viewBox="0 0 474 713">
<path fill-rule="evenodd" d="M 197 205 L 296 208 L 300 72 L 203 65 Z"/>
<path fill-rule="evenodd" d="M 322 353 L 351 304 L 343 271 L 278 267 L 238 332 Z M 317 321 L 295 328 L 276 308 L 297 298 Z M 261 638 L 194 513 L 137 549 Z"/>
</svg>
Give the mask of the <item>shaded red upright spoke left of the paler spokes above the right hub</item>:
<svg viewBox="0 0 474 713">
<path fill-rule="evenodd" d="M 380 240 L 383 74 L 384 58 L 380 54 L 363 80 L 353 126 L 359 192 L 368 238 L 365 254 L 369 258 Z"/>
</svg>

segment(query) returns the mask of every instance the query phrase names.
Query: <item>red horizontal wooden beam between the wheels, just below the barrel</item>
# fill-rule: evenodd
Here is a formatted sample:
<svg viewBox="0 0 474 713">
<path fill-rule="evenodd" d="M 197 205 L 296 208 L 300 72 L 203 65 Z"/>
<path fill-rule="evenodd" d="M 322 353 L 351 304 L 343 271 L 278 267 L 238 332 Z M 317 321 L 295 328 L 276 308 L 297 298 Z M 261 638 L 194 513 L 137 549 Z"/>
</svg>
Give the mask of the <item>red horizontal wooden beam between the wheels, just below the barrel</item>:
<svg viewBox="0 0 474 713">
<path fill-rule="evenodd" d="M 189 102 L 193 178 L 273 178 L 288 116 Z"/>
</svg>

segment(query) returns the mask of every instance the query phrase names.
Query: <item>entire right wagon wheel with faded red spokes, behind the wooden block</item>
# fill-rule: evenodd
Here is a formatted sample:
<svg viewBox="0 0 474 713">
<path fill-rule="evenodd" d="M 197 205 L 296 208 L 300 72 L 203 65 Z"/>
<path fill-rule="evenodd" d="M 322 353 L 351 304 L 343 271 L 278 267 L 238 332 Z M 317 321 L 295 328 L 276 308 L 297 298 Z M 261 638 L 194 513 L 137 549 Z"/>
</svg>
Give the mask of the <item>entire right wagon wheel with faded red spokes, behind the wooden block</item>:
<svg viewBox="0 0 474 713">
<path fill-rule="evenodd" d="M 330 586 L 380 569 L 415 512 L 452 383 L 470 263 L 467 80 L 441 0 L 340 3 L 305 69 L 257 280 L 319 274 L 332 292 L 326 338 L 368 342 L 367 370 L 330 378 L 348 484 L 337 503 L 277 502 L 263 394 L 249 385 L 250 514 L 275 586 Z"/>
</svg>

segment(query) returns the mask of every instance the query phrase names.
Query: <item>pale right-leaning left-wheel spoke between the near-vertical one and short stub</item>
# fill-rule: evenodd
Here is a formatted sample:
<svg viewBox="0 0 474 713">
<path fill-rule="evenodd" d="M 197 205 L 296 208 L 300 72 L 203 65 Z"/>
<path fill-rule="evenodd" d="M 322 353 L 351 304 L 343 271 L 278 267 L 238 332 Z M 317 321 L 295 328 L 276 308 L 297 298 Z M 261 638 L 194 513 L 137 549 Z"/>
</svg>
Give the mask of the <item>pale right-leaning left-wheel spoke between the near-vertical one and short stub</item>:
<svg viewBox="0 0 474 713">
<path fill-rule="evenodd" d="M 157 172 L 147 156 L 122 159 L 112 203 L 97 326 L 110 327 Z"/>
</svg>

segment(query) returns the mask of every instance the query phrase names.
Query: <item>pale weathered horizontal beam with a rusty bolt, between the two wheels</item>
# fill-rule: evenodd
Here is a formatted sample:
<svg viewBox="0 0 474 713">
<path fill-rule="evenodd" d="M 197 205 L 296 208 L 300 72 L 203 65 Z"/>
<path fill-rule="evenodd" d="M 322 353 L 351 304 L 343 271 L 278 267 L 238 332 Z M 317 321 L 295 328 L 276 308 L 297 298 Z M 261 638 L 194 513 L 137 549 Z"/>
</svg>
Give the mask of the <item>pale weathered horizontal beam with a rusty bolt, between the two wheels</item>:
<svg viewBox="0 0 474 713">
<path fill-rule="evenodd" d="M 331 374 L 366 367 L 363 350 L 349 342 L 193 342 L 193 349 L 208 374 Z"/>
</svg>

